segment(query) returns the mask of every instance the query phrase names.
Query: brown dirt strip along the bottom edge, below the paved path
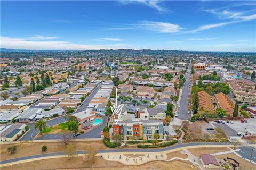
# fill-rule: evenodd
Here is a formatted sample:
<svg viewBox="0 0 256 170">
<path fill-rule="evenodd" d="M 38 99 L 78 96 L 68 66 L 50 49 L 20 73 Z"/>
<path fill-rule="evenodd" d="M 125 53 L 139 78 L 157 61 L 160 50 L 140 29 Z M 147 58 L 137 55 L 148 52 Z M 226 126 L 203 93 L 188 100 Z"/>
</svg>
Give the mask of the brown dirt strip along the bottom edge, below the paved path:
<svg viewBox="0 0 256 170">
<path fill-rule="evenodd" d="M 94 163 L 85 162 L 82 157 L 71 158 L 55 158 L 44 159 L 34 162 L 16 164 L 12 166 L 2 167 L 1 170 L 23 170 L 23 169 L 95 169 L 95 170 L 138 170 L 138 169 L 157 169 L 157 170 L 190 170 L 191 164 L 173 160 L 171 162 L 150 162 L 139 166 L 127 166 L 119 162 L 106 161 L 101 157 L 95 158 Z"/>
</svg>

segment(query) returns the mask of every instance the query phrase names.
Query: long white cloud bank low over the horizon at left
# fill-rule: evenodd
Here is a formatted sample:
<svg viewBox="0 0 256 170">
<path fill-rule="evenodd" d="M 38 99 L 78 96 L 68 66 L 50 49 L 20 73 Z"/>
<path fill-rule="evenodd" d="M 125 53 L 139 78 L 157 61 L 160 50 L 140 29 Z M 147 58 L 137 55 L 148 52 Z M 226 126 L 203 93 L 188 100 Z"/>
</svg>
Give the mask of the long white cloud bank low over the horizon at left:
<svg viewBox="0 0 256 170">
<path fill-rule="evenodd" d="M 119 49 L 126 44 L 73 44 L 67 41 L 30 41 L 21 38 L 0 37 L 1 48 L 34 49 L 34 50 L 89 50 L 89 49 Z"/>
</svg>

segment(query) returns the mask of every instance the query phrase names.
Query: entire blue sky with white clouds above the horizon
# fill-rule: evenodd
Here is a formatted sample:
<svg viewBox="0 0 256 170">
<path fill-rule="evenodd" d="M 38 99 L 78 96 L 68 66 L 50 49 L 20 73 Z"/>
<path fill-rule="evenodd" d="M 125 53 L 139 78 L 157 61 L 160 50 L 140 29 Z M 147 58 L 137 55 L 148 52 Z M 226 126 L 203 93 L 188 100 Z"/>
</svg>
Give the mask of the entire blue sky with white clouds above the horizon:
<svg viewBox="0 0 256 170">
<path fill-rule="evenodd" d="M 255 1 L 1 1 L 1 48 L 256 51 Z"/>
</svg>

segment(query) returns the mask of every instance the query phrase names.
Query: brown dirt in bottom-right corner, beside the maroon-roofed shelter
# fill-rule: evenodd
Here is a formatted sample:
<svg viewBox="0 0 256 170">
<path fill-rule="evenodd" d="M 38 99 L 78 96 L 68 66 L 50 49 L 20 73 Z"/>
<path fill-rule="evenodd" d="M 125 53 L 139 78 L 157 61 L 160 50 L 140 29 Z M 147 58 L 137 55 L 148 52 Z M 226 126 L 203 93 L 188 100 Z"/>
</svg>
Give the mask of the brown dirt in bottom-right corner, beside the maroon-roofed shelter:
<svg viewBox="0 0 256 170">
<path fill-rule="evenodd" d="M 215 158 L 218 158 L 218 159 L 227 159 L 227 157 L 237 160 L 240 163 L 239 168 L 241 170 L 255 170 L 256 169 L 255 164 L 250 163 L 247 160 L 244 160 L 243 158 L 237 156 L 236 154 L 224 154 L 224 155 L 215 156 Z M 231 160 L 230 160 L 230 162 L 231 162 Z"/>
</svg>

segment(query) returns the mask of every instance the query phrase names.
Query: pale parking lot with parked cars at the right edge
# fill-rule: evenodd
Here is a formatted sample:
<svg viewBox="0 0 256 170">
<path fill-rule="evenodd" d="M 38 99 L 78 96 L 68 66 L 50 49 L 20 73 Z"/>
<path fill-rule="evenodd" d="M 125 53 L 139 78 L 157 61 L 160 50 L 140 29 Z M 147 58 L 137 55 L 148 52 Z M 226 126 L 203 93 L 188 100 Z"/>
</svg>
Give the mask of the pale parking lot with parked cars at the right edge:
<svg viewBox="0 0 256 170">
<path fill-rule="evenodd" d="M 241 123 L 241 121 L 233 121 L 234 123 L 226 123 L 230 128 L 234 129 L 237 133 L 244 134 L 247 131 L 256 135 L 256 119 L 247 119 L 248 123 Z"/>
</svg>

